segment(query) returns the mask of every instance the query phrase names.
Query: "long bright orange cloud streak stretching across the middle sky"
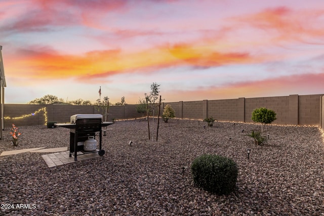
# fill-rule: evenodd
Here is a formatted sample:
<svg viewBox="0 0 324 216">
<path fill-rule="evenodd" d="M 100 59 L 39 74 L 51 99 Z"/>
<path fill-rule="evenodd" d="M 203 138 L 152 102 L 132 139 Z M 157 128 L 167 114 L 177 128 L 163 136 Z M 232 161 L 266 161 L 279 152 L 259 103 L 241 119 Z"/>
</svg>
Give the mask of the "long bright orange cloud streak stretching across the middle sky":
<svg viewBox="0 0 324 216">
<path fill-rule="evenodd" d="M 120 50 L 62 55 L 46 47 L 20 50 L 15 55 L 16 75 L 36 78 L 91 80 L 116 73 L 153 72 L 171 66 L 213 67 L 260 61 L 248 53 L 218 53 L 195 45 L 165 46 L 136 53 Z M 28 70 L 28 73 L 26 73 Z"/>
</svg>

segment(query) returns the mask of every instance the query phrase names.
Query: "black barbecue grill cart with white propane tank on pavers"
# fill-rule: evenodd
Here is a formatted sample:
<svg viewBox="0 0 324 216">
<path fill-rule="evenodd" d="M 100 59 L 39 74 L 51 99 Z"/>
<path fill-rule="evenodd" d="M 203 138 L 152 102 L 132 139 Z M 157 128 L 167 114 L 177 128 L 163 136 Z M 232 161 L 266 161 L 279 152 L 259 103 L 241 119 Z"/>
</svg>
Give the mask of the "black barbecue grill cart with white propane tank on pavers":
<svg viewBox="0 0 324 216">
<path fill-rule="evenodd" d="M 100 156 L 105 154 L 101 149 L 102 143 L 102 127 L 113 124 L 113 122 L 102 122 L 100 114 L 76 114 L 70 117 L 70 123 L 56 123 L 56 126 L 70 129 L 70 154 L 74 155 L 74 160 L 77 160 L 77 155 L 96 153 Z M 93 148 L 97 141 L 94 140 L 99 132 L 99 149 Z M 88 146 L 86 146 L 88 144 Z M 90 144 L 90 145 L 89 145 Z"/>
</svg>

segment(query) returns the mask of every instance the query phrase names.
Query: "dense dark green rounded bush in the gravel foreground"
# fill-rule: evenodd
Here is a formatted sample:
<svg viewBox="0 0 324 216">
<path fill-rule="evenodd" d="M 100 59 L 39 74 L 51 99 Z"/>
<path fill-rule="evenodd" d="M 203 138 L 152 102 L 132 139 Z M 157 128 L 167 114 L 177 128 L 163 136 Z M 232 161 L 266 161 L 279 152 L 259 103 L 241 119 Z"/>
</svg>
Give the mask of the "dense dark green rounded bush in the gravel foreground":
<svg viewBox="0 0 324 216">
<path fill-rule="evenodd" d="M 196 186 L 223 195 L 234 190 L 238 168 L 230 158 L 203 154 L 192 161 L 191 175 Z"/>
</svg>

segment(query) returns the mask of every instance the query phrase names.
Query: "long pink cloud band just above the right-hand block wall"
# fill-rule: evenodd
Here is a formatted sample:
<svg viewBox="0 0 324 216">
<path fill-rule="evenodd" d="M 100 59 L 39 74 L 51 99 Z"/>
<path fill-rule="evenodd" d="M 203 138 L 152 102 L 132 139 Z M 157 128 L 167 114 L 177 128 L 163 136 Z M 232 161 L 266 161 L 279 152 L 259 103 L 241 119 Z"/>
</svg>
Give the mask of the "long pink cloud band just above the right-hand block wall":
<svg viewBox="0 0 324 216">
<path fill-rule="evenodd" d="M 181 98 L 183 101 L 217 100 L 230 98 L 270 97 L 293 94 L 322 94 L 324 69 L 322 73 L 281 76 L 260 81 L 244 81 L 224 84 L 220 87 L 201 87 L 192 91 L 172 91 L 164 97 L 168 101 Z"/>
</svg>

